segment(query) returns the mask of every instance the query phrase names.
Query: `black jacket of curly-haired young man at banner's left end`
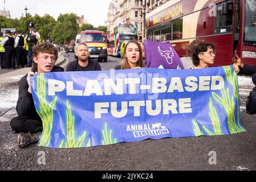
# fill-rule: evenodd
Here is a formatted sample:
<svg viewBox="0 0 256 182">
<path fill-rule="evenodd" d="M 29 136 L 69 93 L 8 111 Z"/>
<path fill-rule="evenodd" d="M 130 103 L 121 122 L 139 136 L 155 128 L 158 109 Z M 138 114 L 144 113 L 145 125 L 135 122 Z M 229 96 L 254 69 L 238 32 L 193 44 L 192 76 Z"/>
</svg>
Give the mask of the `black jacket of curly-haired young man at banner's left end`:
<svg viewBox="0 0 256 182">
<path fill-rule="evenodd" d="M 64 69 L 60 67 L 54 67 L 52 72 L 63 72 Z M 19 97 L 16 106 L 16 111 L 19 116 L 29 116 L 36 120 L 41 120 L 38 113 L 35 110 L 32 94 L 27 91 L 29 84 L 27 83 L 27 74 L 21 78 L 19 82 Z"/>
</svg>

